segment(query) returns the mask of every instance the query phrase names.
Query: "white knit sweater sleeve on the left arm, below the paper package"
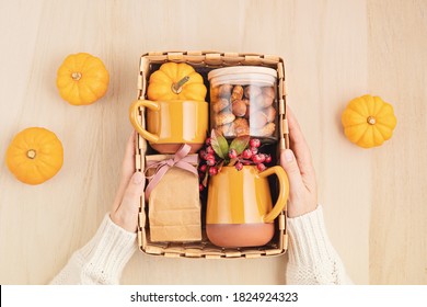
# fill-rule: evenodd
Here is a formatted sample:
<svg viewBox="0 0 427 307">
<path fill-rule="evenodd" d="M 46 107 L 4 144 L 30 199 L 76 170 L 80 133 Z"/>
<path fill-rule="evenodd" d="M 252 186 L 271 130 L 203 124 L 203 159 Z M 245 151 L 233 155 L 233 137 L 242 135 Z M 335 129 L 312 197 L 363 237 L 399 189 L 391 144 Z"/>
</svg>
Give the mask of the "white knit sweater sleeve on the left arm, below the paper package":
<svg viewBox="0 0 427 307">
<path fill-rule="evenodd" d="M 107 214 L 95 236 L 76 251 L 50 284 L 118 284 L 137 250 L 137 235 L 112 221 Z"/>
</svg>

